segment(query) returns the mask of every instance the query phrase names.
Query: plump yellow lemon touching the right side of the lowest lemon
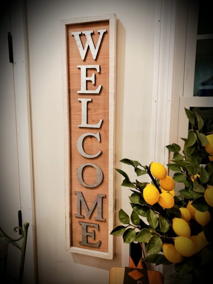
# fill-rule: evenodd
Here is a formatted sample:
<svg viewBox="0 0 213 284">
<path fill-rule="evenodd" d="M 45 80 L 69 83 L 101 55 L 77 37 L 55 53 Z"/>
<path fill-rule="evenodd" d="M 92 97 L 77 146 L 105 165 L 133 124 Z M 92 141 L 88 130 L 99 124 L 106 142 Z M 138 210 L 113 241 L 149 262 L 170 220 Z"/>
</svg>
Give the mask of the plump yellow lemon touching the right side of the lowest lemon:
<svg viewBox="0 0 213 284">
<path fill-rule="evenodd" d="M 180 236 L 175 238 L 175 248 L 179 254 L 190 257 L 195 254 L 195 247 L 192 240 L 187 237 Z"/>
</svg>

